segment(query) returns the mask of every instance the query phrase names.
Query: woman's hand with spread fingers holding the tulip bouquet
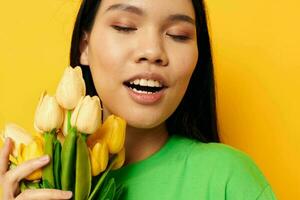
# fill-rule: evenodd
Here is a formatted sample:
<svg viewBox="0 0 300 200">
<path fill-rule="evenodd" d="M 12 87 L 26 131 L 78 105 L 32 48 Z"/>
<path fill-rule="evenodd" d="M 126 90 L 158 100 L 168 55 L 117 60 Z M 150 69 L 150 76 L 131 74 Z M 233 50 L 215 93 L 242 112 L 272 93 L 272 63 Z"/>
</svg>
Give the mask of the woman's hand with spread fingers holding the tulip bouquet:
<svg viewBox="0 0 300 200">
<path fill-rule="evenodd" d="M 41 158 L 29 160 L 12 170 L 8 170 L 9 154 L 12 150 L 12 141 L 7 138 L 4 147 L 0 149 L 0 187 L 2 187 L 3 200 L 40 200 L 40 199 L 70 199 L 72 192 L 54 190 L 54 189 L 36 189 L 25 190 L 20 193 L 19 182 L 35 170 L 45 166 L 50 158 L 43 156 Z"/>
</svg>

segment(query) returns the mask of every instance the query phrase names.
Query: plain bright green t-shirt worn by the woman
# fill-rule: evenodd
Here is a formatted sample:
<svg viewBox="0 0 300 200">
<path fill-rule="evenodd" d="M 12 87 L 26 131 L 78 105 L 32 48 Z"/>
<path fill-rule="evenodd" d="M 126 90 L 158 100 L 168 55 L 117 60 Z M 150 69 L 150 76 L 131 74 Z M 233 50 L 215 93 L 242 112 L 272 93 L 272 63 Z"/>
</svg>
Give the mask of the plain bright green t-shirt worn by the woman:
<svg viewBox="0 0 300 200">
<path fill-rule="evenodd" d="M 273 200 L 255 163 L 220 143 L 170 136 L 145 160 L 111 171 L 123 184 L 122 200 Z"/>
</svg>

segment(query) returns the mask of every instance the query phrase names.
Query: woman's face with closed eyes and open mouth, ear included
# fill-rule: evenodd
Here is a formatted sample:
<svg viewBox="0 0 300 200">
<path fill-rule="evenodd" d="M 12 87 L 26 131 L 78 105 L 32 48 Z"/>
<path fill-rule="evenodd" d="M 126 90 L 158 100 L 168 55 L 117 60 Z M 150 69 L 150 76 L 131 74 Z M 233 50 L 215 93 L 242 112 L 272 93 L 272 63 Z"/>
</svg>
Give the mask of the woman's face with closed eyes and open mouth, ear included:
<svg viewBox="0 0 300 200">
<path fill-rule="evenodd" d="M 106 115 L 154 128 L 179 105 L 197 63 L 192 1 L 103 0 L 81 50 Z"/>
</svg>

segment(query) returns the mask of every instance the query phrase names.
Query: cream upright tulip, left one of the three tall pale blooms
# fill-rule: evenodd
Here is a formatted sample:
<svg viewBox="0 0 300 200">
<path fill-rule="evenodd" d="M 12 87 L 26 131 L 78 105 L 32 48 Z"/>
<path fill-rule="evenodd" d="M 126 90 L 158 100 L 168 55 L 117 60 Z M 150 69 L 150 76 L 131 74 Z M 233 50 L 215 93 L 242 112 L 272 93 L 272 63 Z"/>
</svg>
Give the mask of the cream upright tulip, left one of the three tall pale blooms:
<svg viewBox="0 0 300 200">
<path fill-rule="evenodd" d="M 38 132 L 50 132 L 59 129 L 63 123 L 63 110 L 55 97 L 44 92 L 35 112 L 34 127 Z"/>
</svg>

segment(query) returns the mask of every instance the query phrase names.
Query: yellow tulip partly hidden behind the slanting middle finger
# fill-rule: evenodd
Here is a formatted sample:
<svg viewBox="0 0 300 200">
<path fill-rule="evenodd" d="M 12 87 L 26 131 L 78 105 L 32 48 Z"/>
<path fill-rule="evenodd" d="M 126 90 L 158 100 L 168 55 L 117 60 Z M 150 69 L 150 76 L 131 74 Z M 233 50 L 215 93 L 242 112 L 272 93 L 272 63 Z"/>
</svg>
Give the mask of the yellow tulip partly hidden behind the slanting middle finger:
<svg viewBox="0 0 300 200">
<path fill-rule="evenodd" d="M 43 143 L 39 138 L 34 138 L 34 140 L 29 143 L 28 145 L 21 145 L 21 148 L 19 149 L 19 156 L 18 156 L 18 164 L 22 164 L 23 162 L 26 162 L 28 160 L 38 158 L 40 156 L 44 155 L 43 151 Z M 34 171 L 32 174 L 27 176 L 25 179 L 29 181 L 34 181 L 41 179 L 42 177 L 42 170 L 38 169 Z"/>
</svg>

